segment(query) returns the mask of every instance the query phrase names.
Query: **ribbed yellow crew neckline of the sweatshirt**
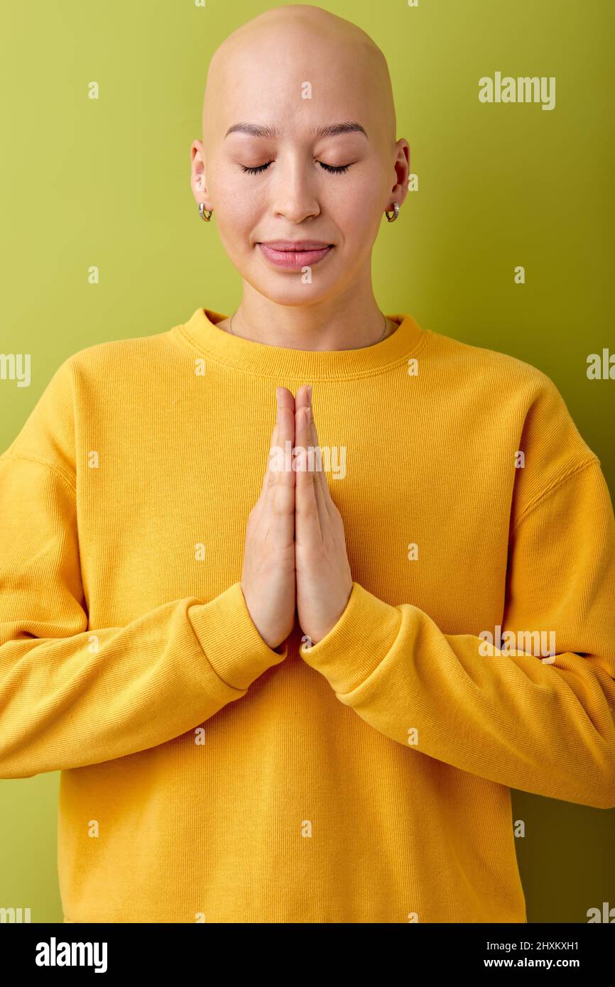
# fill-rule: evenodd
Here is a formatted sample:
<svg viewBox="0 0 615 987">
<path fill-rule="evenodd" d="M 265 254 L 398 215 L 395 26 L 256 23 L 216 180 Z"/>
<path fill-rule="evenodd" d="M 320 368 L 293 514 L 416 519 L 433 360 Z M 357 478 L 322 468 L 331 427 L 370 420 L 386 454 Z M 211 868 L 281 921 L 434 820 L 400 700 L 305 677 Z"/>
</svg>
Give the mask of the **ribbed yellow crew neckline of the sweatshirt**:
<svg viewBox="0 0 615 987">
<path fill-rule="evenodd" d="M 355 349 L 289 349 L 266 342 L 244 340 L 218 329 L 217 323 L 228 316 L 212 309 L 197 308 L 188 322 L 177 329 L 201 353 L 219 363 L 260 376 L 313 380 L 356 377 L 381 373 L 414 355 L 429 330 L 423 330 L 412 316 L 388 315 L 398 329 L 382 342 Z"/>
</svg>

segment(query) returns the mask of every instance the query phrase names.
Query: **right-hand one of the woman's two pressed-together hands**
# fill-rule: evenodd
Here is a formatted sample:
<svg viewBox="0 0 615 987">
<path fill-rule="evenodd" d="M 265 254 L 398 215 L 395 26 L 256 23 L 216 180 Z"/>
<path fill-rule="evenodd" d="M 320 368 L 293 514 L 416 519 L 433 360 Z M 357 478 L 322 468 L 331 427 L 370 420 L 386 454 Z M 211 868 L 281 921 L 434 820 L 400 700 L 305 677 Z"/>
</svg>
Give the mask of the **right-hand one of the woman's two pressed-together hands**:
<svg viewBox="0 0 615 987">
<path fill-rule="evenodd" d="M 303 634 L 310 639 L 307 645 L 316 645 L 344 613 L 352 575 L 344 522 L 322 469 L 307 385 L 295 395 L 295 446 L 302 447 L 294 462 L 297 616 Z M 308 456 L 310 446 L 313 453 Z"/>
</svg>

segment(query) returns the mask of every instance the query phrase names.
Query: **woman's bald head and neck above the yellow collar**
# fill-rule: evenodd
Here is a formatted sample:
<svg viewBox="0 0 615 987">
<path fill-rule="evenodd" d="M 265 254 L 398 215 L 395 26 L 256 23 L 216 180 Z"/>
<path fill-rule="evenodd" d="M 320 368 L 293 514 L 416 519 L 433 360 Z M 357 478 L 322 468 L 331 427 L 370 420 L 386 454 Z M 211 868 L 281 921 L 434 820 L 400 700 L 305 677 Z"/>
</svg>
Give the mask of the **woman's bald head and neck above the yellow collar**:
<svg viewBox="0 0 615 987">
<path fill-rule="evenodd" d="M 382 52 L 318 7 L 267 11 L 214 52 L 192 192 L 242 276 L 236 336 L 322 350 L 395 332 L 371 283 L 383 213 L 408 193 L 409 145 L 395 130 Z M 285 242 L 292 254 L 276 249 Z"/>
</svg>

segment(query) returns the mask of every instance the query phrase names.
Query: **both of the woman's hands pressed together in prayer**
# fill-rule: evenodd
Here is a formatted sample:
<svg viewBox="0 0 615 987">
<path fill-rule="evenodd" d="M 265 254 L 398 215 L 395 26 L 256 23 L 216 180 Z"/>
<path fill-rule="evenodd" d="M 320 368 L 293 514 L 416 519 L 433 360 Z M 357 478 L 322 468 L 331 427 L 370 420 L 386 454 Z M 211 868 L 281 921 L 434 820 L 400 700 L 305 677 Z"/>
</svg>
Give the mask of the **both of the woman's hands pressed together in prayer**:
<svg viewBox="0 0 615 987">
<path fill-rule="evenodd" d="M 241 586 L 271 648 L 289 636 L 295 615 L 308 645 L 316 645 L 337 624 L 352 589 L 344 522 L 322 471 L 311 390 L 303 385 L 293 398 L 277 389 L 268 469 L 248 518 Z"/>
</svg>

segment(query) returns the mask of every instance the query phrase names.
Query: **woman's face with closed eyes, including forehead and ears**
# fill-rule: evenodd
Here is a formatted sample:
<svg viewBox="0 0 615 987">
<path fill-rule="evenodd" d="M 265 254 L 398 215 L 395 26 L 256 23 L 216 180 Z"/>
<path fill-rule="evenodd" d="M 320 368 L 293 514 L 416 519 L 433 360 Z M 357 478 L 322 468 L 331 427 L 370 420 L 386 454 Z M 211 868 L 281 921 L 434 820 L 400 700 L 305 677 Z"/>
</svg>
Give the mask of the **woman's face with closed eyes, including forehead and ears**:
<svg viewBox="0 0 615 987">
<path fill-rule="evenodd" d="M 408 144 L 391 140 L 353 46 L 320 38 L 306 52 L 301 32 L 281 47 L 271 34 L 219 67 L 192 186 L 242 277 L 280 304 L 310 304 L 369 280 L 382 214 L 405 197 Z"/>
</svg>

